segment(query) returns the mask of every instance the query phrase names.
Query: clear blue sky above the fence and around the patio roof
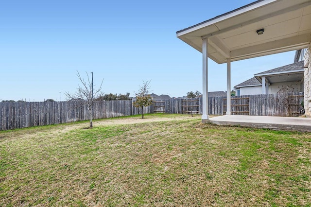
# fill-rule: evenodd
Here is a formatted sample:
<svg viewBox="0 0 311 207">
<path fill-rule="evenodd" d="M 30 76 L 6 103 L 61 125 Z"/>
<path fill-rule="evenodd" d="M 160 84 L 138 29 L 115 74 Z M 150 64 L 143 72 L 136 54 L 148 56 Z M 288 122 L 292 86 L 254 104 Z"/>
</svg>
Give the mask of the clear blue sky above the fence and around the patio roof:
<svg viewBox="0 0 311 207">
<path fill-rule="evenodd" d="M 7 0 L 0 2 L 0 100 L 60 101 L 78 70 L 104 78 L 104 93 L 202 92 L 202 54 L 176 31 L 253 0 Z M 293 63 L 294 52 L 233 62 L 231 88 Z M 208 90 L 226 90 L 226 65 L 208 62 Z M 96 87 L 96 86 L 95 86 Z"/>
</svg>

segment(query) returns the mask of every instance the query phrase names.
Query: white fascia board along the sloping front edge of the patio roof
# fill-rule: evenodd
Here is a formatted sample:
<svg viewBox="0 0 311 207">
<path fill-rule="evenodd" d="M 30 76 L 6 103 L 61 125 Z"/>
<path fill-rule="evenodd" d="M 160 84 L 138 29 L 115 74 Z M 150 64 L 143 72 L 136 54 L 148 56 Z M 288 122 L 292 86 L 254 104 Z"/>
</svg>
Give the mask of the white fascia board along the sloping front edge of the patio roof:
<svg viewBox="0 0 311 207">
<path fill-rule="evenodd" d="M 228 19 L 228 18 L 231 18 L 231 17 L 235 17 L 235 16 L 238 16 L 238 15 L 241 15 L 241 14 L 243 14 L 243 13 L 249 12 L 249 11 L 251 11 L 251 10 L 257 9 L 257 8 L 259 8 L 259 7 L 261 7 L 261 6 L 264 6 L 264 5 L 266 5 L 266 4 L 269 4 L 269 3 L 272 3 L 272 2 L 275 2 L 275 1 L 277 1 L 277 0 L 263 0 L 263 1 L 260 1 L 260 2 L 258 2 L 258 3 L 256 3 L 256 4 L 253 4 L 253 5 L 247 6 L 247 7 L 245 7 L 245 8 L 242 8 L 242 9 L 240 9 L 240 10 L 238 10 L 238 11 L 229 13 L 229 14 L 227 14 L 227 15 L 221 15 L 221 16 L 218 17 L 218 18 L 212 19 L 212 20 L 207 21 L 207 22 L 205 22 L 205 23 L 203 23 L 203 24 L 199 24 L 198 26 L 195 26 L 195 27 L 191 27 L 191 28 L 189 28 L 189 29 L 186 29 L 186 30 L 184 30 L 184 31 L 182 31 L 182 32 L 180 32 L 180 33 L 178 33 L 178 34 L 176 34 L 176 35 L 177 35 L 177 37 L 178 37 L 178 36 L 181 36 L 181 35 L 186 35 L 186 34 L 191 33 L 191 32 L 193 32 L 193 31 L 202 29 L 202 28 L 204 28 L 204 27 L 207 27 L 207 26 L 209 26 L 209 25 L 212 25 L 212 24 L 215 24 L 215 23 L 217 23 L 217 22 L 223 21 L 223 20 L 225 20 L 225 19 Z"/>
</svg>

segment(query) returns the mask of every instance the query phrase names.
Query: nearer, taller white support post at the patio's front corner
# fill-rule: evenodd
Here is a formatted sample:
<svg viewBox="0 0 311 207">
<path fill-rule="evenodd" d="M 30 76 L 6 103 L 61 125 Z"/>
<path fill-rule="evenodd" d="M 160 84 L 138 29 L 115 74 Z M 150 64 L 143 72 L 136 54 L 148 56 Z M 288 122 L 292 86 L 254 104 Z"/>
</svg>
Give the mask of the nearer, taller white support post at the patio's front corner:
<svg viewBox="0 0 311 207">
<path fill-rule="evenodd" d="M 207 45 L 208 39 L 203 39 L 202 54 L 203 54 L 203 94 L 202 94 L 202 121 L 207 121 L 208 116 L 208 93 L 207 93 Z"/>
</svg>

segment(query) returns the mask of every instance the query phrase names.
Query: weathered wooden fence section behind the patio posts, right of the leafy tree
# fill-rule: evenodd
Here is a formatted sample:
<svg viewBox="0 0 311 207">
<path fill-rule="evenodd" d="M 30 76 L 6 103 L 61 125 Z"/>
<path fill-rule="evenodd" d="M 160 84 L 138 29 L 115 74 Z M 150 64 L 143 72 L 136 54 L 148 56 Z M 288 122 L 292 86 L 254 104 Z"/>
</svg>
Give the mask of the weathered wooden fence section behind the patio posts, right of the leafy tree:
<svg viewBox="0 0 311 207">
<path fill-rule="evenodd" d="M 284 96 L 288 96 L 287 106 L 281 103 Z M 202 98 L 199 99 L 171 99 L 165 101 L 165 113 L 199 113 L 202 114 Z M 171 104 L 168 104 L 168 101 Z M 259 94 L 231 97 L 232 115 L 251 116 L 298 116 L 299 105 L 303 101 L 303 93 L 291 94 Z M 171 109 L 168 107 L 170 106 Z M 287 112 L 290 107 L 291 114 Z M 300 106 L 301 108 L 302 106 Z M 226 97 L 208 97 L 208 114 L 224 115 L 226 112 Z"/>
</svg>

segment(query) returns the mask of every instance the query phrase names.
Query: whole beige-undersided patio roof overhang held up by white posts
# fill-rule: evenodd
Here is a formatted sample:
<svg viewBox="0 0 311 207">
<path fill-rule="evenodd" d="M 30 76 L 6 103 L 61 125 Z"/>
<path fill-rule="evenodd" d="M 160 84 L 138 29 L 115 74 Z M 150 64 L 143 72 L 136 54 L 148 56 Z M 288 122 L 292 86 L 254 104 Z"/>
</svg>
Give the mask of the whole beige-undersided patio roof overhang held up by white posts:
<svg viewBox="0 0 311 207">
<path fill-rule="evenodd" d="M 310 19 L 311 0 L 258 0 L 176 35 L 199 52 L 208 38 L 208 57 L 220 64 L 307 48 Z"/>
</svg>

